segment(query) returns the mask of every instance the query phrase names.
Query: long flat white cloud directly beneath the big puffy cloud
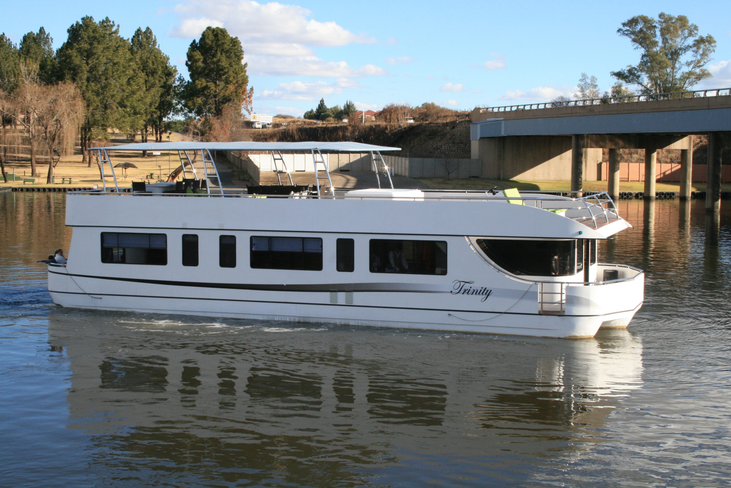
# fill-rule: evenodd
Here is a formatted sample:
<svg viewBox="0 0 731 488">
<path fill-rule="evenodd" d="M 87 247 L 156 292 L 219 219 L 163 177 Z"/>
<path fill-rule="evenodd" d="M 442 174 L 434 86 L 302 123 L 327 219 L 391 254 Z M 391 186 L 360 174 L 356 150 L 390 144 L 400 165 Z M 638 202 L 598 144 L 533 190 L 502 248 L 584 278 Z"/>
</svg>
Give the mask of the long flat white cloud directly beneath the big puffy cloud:
<svg viewBox="0 0 731 488">
<path fill-rule="evenodd" d="M 366 64 L 357 70 L 346 61 L 323 61 L 316 56 L 248 56 L 248 71 L 254 75 L 317 76 L 317 78 L 357 78 L 386 75 L 383 68 Z"/>
</svg>

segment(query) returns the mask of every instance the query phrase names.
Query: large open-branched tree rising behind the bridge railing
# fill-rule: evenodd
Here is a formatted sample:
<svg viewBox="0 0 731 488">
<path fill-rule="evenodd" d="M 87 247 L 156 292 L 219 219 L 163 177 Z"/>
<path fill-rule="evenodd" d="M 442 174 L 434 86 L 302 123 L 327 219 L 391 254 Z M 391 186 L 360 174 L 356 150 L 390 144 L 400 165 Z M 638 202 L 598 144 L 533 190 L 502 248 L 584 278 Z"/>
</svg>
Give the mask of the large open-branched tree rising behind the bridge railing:
<svg viewBox="0 0 731 488">
<path fill-rule="evenodd" d="M 716 50 L 710 34 L 698 35 L 698 26 L 685 15 L 660 13 L 657 20 L 636 15 L 622 23 L 618 34 L 640 50 L 640 62 L 611 75 L 625 85 L 636 85 L 642 94 L 685 91 L 711 77 L 704 67 Z"/>
</svg>

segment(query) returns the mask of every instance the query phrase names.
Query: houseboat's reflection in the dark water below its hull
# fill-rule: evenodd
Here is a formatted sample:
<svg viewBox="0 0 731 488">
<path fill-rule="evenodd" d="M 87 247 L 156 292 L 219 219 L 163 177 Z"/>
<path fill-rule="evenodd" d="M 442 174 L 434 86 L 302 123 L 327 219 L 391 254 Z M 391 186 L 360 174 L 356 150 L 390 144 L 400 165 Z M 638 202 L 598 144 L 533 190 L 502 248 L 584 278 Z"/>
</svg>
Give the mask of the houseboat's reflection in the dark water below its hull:
<svg viewBox="0 0 731 488">
<path fill-rule="evenodd" d="M 91 464 L 148 483 L 531 478 L 537 459 L 601 441 L 642 386 L 626 330 L 558 341 L 61 309 L 48 332 Z"/>
</svg>

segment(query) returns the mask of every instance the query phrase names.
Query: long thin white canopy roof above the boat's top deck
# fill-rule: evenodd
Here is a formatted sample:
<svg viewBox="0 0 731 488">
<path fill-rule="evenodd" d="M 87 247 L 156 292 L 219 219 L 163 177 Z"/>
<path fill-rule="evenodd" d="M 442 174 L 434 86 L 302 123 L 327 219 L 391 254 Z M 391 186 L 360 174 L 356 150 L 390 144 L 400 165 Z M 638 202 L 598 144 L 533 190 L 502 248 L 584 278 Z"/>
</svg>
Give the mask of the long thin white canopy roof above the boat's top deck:
<svg viewBox="0 0 731 488">
<path fill-rule="evenodd" d="M 170 143 L 134 143 L 119 146 L 91 148 L 90 151 L 105 149 L 107 151 L 322 151 L 322 152 L 368 152 L 368 151 L 400 151 L 398 147 L 374 146 L 364 143 L 255 143 L 250 140 L 241 140 L 232 143 L 203 143 L 203 142 L 170 142 Z"/>
</svg>

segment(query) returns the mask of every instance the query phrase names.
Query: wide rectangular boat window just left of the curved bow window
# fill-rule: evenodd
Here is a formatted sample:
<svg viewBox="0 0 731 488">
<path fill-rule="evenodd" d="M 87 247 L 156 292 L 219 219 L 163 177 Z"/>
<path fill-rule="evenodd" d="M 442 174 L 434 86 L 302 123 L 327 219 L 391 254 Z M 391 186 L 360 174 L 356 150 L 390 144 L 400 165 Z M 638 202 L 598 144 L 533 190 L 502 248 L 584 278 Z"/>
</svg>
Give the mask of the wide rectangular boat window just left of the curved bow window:
<svg viewBox="0 0 731 488">
<path fill-rule="evenodd" d="M 447 274 L 447 242 L 371 239 L 371 273 Z"/>
</svg>

